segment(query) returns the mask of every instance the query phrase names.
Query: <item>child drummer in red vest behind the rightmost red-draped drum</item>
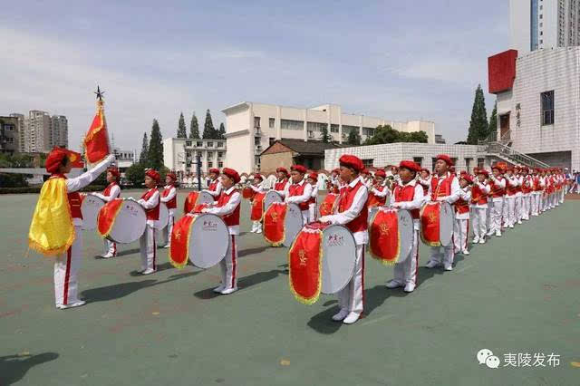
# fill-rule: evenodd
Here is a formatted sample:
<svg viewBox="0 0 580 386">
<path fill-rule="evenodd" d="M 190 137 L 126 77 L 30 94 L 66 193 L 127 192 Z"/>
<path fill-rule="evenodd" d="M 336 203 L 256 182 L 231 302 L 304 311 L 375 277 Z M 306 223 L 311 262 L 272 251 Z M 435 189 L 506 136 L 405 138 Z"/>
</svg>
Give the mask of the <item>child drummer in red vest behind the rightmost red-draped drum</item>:
<svg viewBox="0 0 580 386">
<path fill-rule="evenodd" d="M 455 203 L 459 198 L 459 180 L 449 169 L 453 166 L 453 161 L 447 154 L 437 156 L 435 172 L 431 178 L 430 199 L 432 201 L 447 201 L 449 204 Z M 434 268 L 441 265 L 446 271 L 453 270 L 453 243 L 449 246 L 431 246 L 430 259 L 427 268 Z M 441 251 L 442 249 L 442 251 Z"/>
</svg>

